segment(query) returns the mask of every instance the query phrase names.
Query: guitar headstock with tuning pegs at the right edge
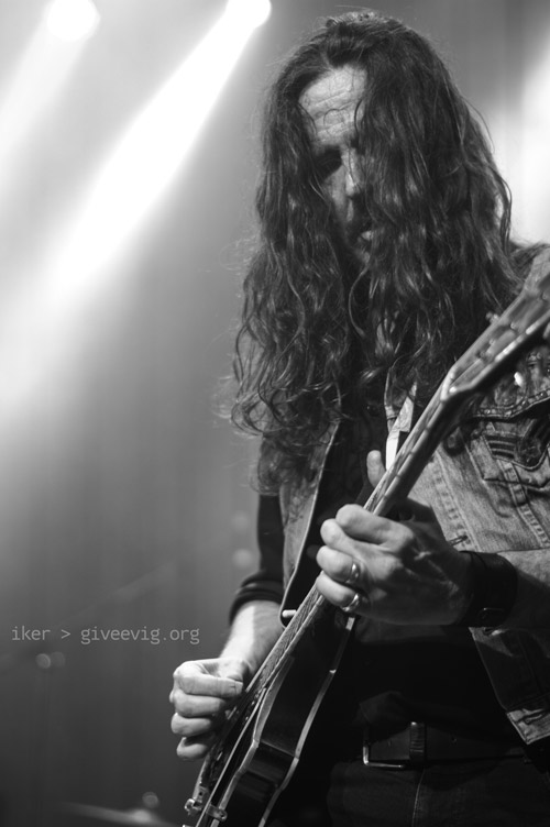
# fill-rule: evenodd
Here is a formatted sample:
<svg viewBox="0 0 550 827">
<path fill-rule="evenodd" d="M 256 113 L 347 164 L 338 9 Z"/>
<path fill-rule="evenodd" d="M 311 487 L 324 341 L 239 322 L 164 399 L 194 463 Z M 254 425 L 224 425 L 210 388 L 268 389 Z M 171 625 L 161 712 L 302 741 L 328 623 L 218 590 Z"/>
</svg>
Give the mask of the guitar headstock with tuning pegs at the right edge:
<svg viewBox="0 0 550 827">
<path fill-rule="evenodd" d="M 441 401 L 483 390 L 529 345 L 543 340 L 549 324 L 550 272 L 527 282 L 503 315 L 455 362 L 443 381 Z"/>
</svg>

